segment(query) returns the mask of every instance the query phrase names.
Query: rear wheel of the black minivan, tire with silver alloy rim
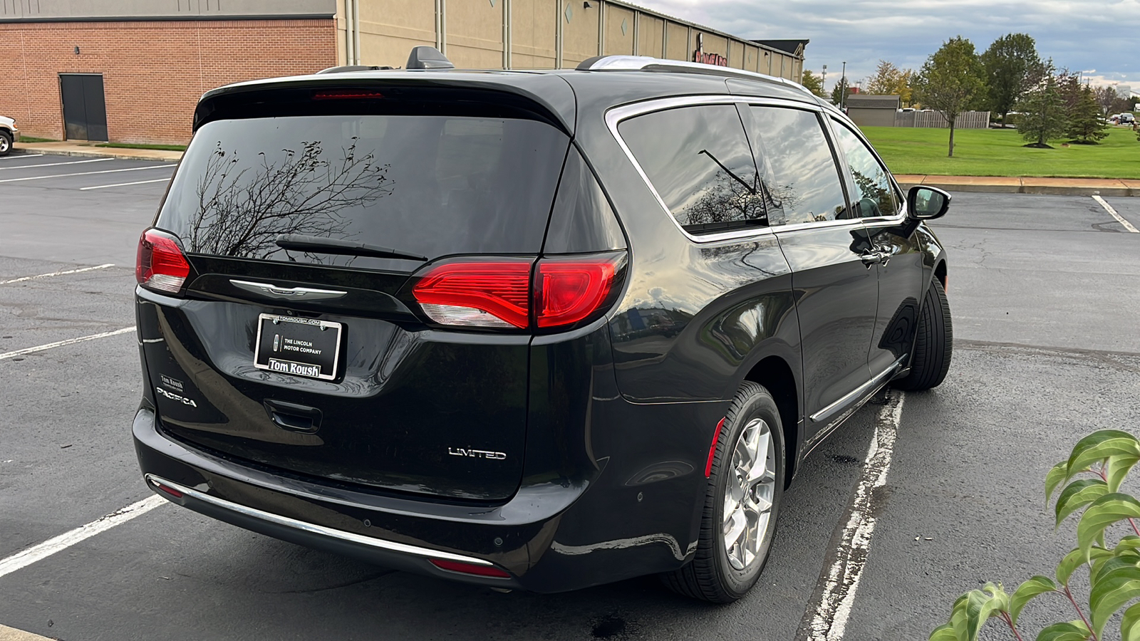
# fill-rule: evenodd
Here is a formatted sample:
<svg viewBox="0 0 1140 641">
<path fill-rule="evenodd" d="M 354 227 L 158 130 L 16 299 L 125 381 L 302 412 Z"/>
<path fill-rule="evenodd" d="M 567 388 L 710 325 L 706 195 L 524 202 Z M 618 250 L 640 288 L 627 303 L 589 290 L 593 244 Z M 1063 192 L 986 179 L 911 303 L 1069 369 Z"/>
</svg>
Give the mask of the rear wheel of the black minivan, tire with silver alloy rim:
<svg viewBox="0 0 1140 641">
<path fill-rule="evenodd" d="M 768 435 L 766 441 L 763 440 L 765 429 Z M 749 438 L 744 438 L 746 431 L 749 431 L 747 435 Z M 755 440 L 754 452 L 764 451 L 762 455 L 765 459 L 765 469 L 763 472 L 756 472 L 752 465 L 752 473 L 743 476 L 759 478 L 741 482 L 742 469 L 734 462 L 742 462 L 742 459 L 735 454 L 739 447 L 744 447 L 741 452 L 747 451 L 749 440 Z M 758 459 L 754 457 L 754 462 Z M 731 603 L 743 597 L 756 584 L 768 560 L 772 538 L 775 535 L 776 516 L 783 498 L 785 461 L 783 425 L 780 422 L 776 403 L 768 390 L 746 381 L 740 386 L 725 416 L 720 436 L 717 438 L 712 471 L 705 490 L 705 509 L 701 512 L 697 553 L 681 569 L 661 575 L 661 581 L 670 590 L 693 599 Z M 751 482 L 755 485 L 750 485 Z M 744 522 L 744 530 L 736 538 L 738 544 L 731 547 L 726 544 L 726 538 L 732 532 L 736 532 L 738 527 L 732 527 L 730 534 L 725 534 L 724 516 L 726 503 L 731 500 L 730 484 L 733 484 L 736 493 L 744 495 L 731 512 L 732 525 L 739 527 L 741 519 Z M 742 490 L 743 487 L 751 487 L 755 493 L 749 494 Z M 765 517 L 763 504 L 766 498 L 771 501 Z M 755 520 L 748 513 L 746 504 L 757 509 Z M 755 538 L 749 536 L 750 530 L 756 533 Z M 740 545 L 750 542 L 755 542 L 748 545 L 752 552 L 751 558 Z M 742 567 L 734 567 L 734 563 Z"/>
</svg>

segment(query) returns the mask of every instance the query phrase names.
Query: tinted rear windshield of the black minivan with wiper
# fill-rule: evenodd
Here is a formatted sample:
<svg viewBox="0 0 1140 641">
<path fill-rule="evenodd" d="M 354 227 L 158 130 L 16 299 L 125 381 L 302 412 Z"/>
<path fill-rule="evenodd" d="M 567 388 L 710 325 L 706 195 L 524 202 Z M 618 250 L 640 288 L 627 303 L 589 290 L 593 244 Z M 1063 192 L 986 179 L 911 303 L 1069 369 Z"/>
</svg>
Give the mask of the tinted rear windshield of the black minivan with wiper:
<svg viewBox="0 0 1140 641">
<path fill-rule="evenodd" d="M 568 144 L 547 124 L 513 119 L 215 121 L 194 136 L 156 226 L 189 253 L 332 266 L 394 265 L 286 251 L 277 236 L 427 258 L 537 253 Z"/>
</svg>

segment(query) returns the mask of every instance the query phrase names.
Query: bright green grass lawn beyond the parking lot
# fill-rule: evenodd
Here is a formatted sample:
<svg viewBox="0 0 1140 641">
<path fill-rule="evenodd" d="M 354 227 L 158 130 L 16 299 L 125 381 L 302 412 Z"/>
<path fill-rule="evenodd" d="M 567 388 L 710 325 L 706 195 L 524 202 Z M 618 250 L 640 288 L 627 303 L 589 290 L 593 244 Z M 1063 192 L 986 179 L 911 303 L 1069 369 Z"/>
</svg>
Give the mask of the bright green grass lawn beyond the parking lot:
<svg viewBox="0 0 1140 641">
<path fill-rule="evenodd" d="M 864 127 L 863 133 L 893 173 L 1140 179 L 1140 140 L 1123 127 L 1110 129 L 1099 145 L 1062 147 L 1064 140 L 1051 140 L 1053 149 L 1023 147 L 1013 129 L 959 129 L 954 157 L 946 157 L 948 129 Z"/>
</svg>

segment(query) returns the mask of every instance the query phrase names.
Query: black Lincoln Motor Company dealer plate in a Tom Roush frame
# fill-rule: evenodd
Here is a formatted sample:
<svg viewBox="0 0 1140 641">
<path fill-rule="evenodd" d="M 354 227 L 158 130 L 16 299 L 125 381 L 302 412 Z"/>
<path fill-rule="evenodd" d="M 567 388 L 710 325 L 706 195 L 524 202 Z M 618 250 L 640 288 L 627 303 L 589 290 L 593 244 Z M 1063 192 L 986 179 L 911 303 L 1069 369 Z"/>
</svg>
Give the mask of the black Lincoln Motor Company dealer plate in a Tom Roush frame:
<svg viewBox="0 0 1140 641">
<path fill-rule="evenodd" d="M 331 381 L 341 355 L 341 324 L 295 316 L 258 316 L 253 366 Z"/>
</svg>

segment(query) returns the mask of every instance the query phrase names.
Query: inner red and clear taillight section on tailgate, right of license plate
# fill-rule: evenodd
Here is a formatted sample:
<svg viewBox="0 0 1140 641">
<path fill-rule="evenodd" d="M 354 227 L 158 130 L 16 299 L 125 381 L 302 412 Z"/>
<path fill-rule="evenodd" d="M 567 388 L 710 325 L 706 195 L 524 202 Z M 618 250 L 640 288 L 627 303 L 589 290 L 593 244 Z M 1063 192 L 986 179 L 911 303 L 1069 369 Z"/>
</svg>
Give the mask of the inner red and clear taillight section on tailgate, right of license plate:
<svg viewBox="0 0 1140 641">
<path fill-rule="evenodd" d="M 432 320 L 474 327 L 527 327 L 529 259 L 448 262 L 427 270 L 412 295 Z"/>
</svg>

